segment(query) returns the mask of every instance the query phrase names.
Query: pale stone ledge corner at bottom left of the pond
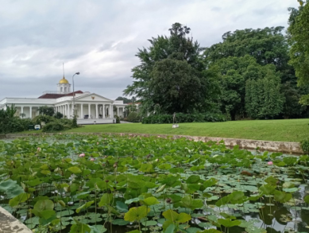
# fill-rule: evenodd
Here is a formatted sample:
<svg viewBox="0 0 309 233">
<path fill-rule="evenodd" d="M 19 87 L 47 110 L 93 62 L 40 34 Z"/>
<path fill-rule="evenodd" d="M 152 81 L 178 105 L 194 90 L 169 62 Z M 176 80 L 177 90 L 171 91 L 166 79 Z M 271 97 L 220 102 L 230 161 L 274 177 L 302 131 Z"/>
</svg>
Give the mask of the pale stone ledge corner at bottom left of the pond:
<svg viewBox="0 0 309 233">
<path fill-rule="evenodd" d="M 23 223 L 19 222 L 8 211 L 0 207 L 1 233 L 33 233 Z"/>
</svg>

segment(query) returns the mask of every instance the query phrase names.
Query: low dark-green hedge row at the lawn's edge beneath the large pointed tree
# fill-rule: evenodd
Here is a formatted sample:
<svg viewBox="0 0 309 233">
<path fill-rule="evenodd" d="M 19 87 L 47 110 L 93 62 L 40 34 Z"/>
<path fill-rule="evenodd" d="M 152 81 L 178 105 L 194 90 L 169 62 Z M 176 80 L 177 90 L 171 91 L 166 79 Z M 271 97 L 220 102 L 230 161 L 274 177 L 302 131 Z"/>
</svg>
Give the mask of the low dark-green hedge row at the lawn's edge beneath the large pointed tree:
<svg viewBox="0 0 309 233">
<path fill-rule="evenodd" d="M 224 115 L 220 113 L 176 113 L 176 123 L 185 122 L 217 122 L 226 121 Z M 154 114 L 144 117 L 143 124 L 170 124 L 173 123 L 173 115 L 170 114 Z"/>
</svg>

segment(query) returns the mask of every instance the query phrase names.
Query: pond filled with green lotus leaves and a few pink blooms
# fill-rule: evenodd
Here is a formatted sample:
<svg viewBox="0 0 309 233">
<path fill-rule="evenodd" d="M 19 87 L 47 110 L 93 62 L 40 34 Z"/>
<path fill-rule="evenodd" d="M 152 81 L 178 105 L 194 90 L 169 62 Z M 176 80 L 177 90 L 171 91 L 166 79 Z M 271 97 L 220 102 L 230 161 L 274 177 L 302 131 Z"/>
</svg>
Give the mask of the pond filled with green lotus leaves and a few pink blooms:
<svg viewBox="0 0 309 233">
<path fill-rule="evenodd" d="M 309 232 L 308 155 L 184 138 L 0 140 L 0 206 L 35 232 Z"/>
</svg>

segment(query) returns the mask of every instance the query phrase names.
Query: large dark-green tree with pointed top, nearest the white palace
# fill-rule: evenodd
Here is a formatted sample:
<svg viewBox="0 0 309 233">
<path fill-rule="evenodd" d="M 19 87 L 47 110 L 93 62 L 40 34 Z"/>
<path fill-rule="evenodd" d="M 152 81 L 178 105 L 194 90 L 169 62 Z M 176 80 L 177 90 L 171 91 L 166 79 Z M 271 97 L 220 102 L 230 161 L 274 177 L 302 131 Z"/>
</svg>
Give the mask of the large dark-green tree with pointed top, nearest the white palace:
<svg viewBox="0 0 309 233">
<path fill-rule="evenodd" d="M 169 37 L 153 37 L 148 49 L 139 49 L 141 64 L 132 69 L 135 81 L 124 94 L 136 95 L 145 112 L 158 106 L 165 113 L 210 110 L 216 72 L 205 71 L 204 49 L 187 37 L 190 28 L 174 23 L 169 31 Z"/>
</svg>

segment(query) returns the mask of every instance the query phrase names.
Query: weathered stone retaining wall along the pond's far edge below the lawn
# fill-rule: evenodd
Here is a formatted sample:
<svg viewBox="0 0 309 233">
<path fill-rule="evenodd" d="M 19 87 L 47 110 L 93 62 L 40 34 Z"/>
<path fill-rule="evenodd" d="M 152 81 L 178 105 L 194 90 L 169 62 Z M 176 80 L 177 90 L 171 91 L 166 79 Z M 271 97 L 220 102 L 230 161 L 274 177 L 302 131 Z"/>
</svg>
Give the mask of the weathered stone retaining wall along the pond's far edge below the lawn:
<svg viewBox="0 0 309 233">
<path fill-rule="evenodd" d="M 2 135 L 2 138 L 20 138 L 20 137 L 29 137 L 29 136 L 42 136 L 42 135 L 52 135 L 53 133 L 33 133 L 33 134 L 5 134 Z M 198 137 L 198 136 L 188 136 L 188 135 L 167 135 L 167 134 L 145 134 L 145 133 L 78 133 L 78 134 L 92 134 L 92 135 L 121 135 L 121 136 L 141 136 L 141 137 L 150 137 L 158 136 L 162 138 L 187 138 L 194 141 L 214 141 L 220 142 L 224 141 L 226 146 L 232 147 L 239 145 L 239 148 L 255 150 L 259 147 L 260 150 L 268 150 L 275 152 L 283 152 L 288 154 L 302 154 L 303 151 L 298 142 L 273 142 L 273 141 L 261 141 L 261 140 L 250 140 L 250 139 L 239 139 L 239 138 L 214 138 L 214 137 Z M 1 138 L 1 135 L 0 135 Z"/>
</svg>

